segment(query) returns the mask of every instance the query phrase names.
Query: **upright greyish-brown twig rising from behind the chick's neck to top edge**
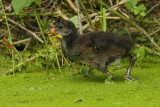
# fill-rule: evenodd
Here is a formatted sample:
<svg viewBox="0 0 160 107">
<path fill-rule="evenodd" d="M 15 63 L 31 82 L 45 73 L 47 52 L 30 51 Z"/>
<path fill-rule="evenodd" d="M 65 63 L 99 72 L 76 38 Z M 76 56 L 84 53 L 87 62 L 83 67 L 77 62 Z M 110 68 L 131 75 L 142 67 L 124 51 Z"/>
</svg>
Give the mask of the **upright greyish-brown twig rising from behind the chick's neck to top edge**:
<svg viewBox="0 0 160 107">
<path fill-rule="evenodd" d="M 81 14 L 80 14 L 80 5 L 79 5 L 79 1 L 78 0 L 76 0 L 76 5 L 77 5 L 77 12 L 78 12 L 79 32 L 80 32 L 80 35 L 82 35 L 83 34 L 82 21 L 81 21 Z"/>
</svg>

